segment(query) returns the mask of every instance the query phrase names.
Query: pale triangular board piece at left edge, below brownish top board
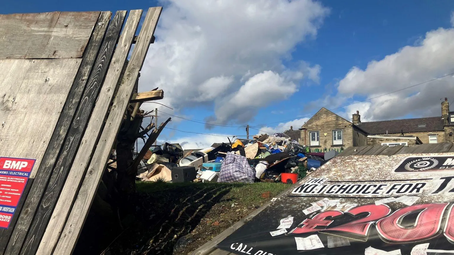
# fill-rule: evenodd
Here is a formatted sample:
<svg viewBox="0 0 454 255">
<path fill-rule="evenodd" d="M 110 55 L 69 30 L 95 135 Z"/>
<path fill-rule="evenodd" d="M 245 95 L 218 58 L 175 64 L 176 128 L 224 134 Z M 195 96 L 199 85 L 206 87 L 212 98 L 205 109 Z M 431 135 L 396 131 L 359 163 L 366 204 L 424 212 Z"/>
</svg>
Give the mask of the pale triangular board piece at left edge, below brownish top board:
<svg viewBox="0 0 454 255">
<path fill-rule="evenodd" d="M 0 124 L 6 121 L 31 60 L 0 59 Z"/>
</svg>

